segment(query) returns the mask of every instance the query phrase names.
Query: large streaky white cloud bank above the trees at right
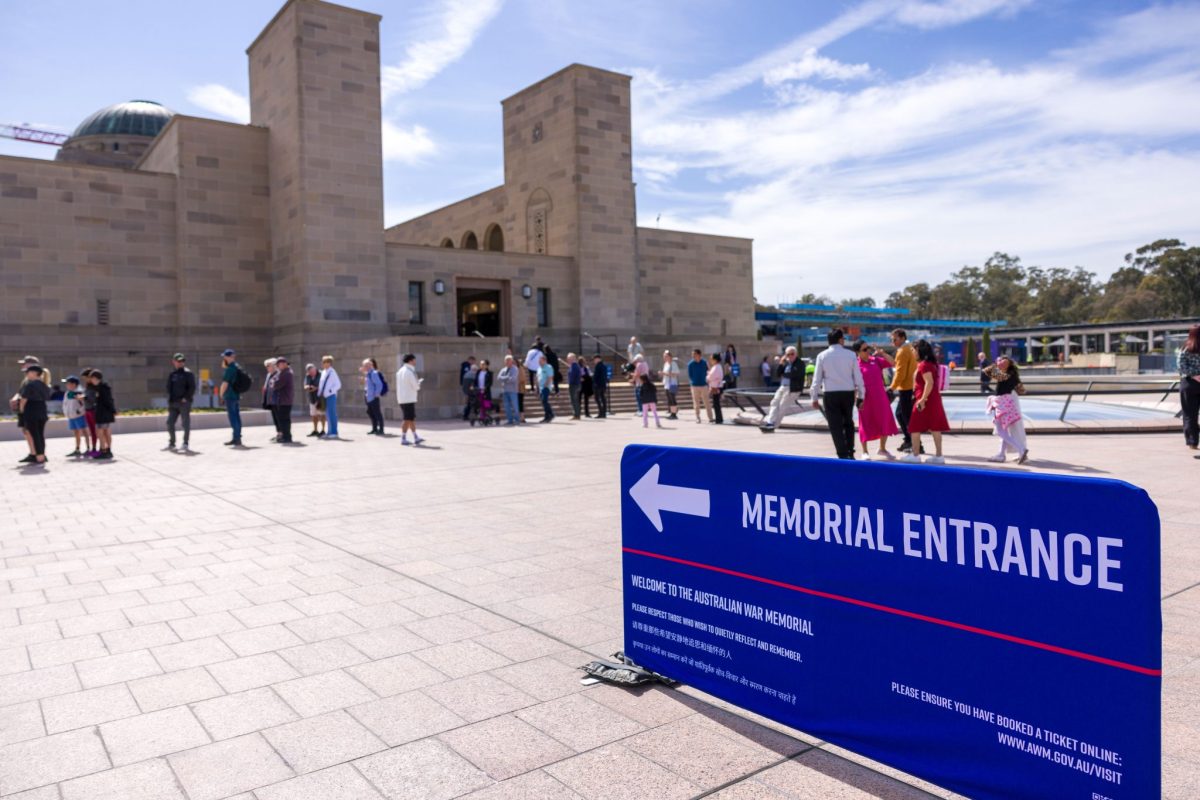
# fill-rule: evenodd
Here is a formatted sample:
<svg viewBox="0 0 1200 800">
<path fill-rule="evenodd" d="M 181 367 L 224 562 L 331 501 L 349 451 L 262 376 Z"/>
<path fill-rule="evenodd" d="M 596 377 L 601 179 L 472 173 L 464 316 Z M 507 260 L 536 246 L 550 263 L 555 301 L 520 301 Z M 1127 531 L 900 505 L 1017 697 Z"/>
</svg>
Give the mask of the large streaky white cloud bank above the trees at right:
<svg viewBox="0 0 1200 800">
<path fill-rule="evenodd" d="M 882 300 L 996 249 L 1106 275 L 1146 241 L 1200 239 L 1200 55 L 1172 32 L 1200 28 L 1200 7 L 1128 20 L 1021 68 L 948 65 L 806 86 L 776 108 L 637 121 L 635 167 L 650 160 L 665 181 L 644 185 L 642 224 L 661 210 L 672 225 L 752 236 L 764 299 Z M 713 176 L 707 197 L 674 188 L 703 192 Z"/>
</svg>

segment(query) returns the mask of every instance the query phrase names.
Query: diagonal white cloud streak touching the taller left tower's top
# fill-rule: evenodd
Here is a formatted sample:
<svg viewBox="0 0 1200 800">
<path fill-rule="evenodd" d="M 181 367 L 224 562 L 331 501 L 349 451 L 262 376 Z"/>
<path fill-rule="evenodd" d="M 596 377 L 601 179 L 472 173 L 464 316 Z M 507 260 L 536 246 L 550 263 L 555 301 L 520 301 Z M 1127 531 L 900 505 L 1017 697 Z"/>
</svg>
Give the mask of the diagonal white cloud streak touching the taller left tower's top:
<svg viewBox="0 0 1200 800">
<path fill-rule="evenodd" d="M 440 0 L 419 17 L 404 59 L 383 67 L 384 98 L 424 86 L 462 58 L 499 13 L 502 4 L 503 0 Z"/>
</svg>

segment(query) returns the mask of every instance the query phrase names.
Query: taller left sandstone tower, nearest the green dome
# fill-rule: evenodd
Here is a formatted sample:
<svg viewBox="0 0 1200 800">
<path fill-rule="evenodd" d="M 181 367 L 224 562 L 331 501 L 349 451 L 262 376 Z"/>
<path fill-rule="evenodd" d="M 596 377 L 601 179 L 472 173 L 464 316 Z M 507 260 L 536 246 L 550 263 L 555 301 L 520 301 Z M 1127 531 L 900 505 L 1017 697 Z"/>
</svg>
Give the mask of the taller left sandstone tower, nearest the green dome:
<svg viewBox="0 0 1200 800">
<path fill-rule="evenodd" d="M 386 333 L 379 17 L 290 0 L 246 50 L 269 130 L 276 343 Z"/>
</svg>

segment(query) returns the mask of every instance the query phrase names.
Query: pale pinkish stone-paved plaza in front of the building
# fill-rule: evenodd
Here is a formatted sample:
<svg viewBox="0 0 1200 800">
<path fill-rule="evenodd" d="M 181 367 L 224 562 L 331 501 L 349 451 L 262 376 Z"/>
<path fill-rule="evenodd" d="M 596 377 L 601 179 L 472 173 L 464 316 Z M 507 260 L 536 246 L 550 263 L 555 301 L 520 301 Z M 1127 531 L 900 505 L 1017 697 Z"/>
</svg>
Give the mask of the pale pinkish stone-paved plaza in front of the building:
<svg viewBox="0 0 1200 800">
<path fill-rule="evenodd" d="M 260 427 L 241 451 L 198 432 L 191 455 L 139 434 L 108 463 L 55 439 L 44 470 L 0 444 L 0 795 L 952 796 L 688 687 L 580 684 L 622 646 L 624 445 L 832 451 L 823 433 L 667 426 L 444 423 L 420 449 L 354 423 L 286 447 Z M 997 468 L 990 437 L 946 451 Z M 1200 462 L 1177 434 L 1031 451 L 1030 471 L 1158 504 L 1164 796 L 1200 796 Z M 926 468 L 880 480 L 893 469 Z"/>
</svg>

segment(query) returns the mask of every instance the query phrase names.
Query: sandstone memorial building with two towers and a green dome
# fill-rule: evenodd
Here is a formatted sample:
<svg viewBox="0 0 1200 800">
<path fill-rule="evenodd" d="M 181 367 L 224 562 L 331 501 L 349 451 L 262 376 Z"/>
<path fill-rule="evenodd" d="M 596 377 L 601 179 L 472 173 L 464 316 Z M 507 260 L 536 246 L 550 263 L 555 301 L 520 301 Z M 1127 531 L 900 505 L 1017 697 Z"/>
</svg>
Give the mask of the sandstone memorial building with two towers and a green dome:
<svg viewBox="0 0 1200 800">
<path fill-rule="evenodd" d="M 175 350 L 197 372 L 227 347 L 329 351 L 343 375 L 410 350 L 449 391 L 467 353 L 539 335 L 754 339 L 749 240 L 637 225 L 623 74 L 571 65 L 502 101 L 504 184 L 385 229 L 379 22 L 287 2 L 247 49 L 248 125 L 132 101 L 55 161 L 0 157 L 0 356 L 102 367 L 133 408 Z"/>
</svg>

